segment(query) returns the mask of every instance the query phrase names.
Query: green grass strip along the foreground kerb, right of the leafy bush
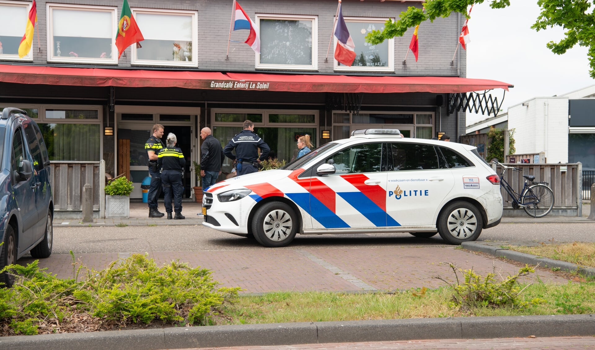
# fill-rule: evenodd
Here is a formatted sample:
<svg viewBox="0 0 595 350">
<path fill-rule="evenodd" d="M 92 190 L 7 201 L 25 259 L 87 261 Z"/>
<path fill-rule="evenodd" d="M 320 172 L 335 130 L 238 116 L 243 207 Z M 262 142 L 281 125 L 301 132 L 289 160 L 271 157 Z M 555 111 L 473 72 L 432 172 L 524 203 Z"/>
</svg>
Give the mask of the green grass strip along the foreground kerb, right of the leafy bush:
<svg viewBox="0 0 595 350">
<path fill-rule="evenodd" d="M 525 285 L 526 286 L 526 285 Z M 524 288 L 525 286 L 520 286 Z M 595 283 L 527 286 L 522 301 L 543 299 L 539 305 L 527 307 L 449 306 L 454 292 L 449 287 L 394 293 L 343 294 L 331 292 L 277 292 L 240 297 L 226 304 L 226 318 L 217 324 L 283 323 L 307 321 L 387 320 L 428 317 L 527 316 L 552 314 L 588 314 L 595 310 Z"/>
</svg>

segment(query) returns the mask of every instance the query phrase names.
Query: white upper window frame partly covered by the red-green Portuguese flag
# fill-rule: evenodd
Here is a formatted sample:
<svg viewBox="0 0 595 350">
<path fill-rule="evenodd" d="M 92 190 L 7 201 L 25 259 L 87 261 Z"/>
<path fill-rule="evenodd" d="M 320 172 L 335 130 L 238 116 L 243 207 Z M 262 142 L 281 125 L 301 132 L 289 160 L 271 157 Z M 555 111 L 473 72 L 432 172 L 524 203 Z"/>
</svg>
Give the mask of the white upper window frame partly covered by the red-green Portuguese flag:
<svg viewBox="0 0 595 350">
<path fill-rule="evenodd" d="M 192 47 L 195 48 L 192 53 L 192 61 L 157 61 L 156 59 L 138 59 L 136 45 L 131 46 L 131 65 L 156 65 L 168 67 L 198 67 L 198 11 L 192 10 L 169 10 L 161 8 L 131 8 L 132 15 L 136 20 L 136 14 L 167 14 L 167 15 L 190 15 L 192 21 Z M 148 40 L 149 38 L 145 38 Z M 150 39 L 149 39 L 150 40 Z M 142 42 L 141 42 L 142 43 Z M 142 45 L 142 44 L 141 44 Z"/>
</svg>

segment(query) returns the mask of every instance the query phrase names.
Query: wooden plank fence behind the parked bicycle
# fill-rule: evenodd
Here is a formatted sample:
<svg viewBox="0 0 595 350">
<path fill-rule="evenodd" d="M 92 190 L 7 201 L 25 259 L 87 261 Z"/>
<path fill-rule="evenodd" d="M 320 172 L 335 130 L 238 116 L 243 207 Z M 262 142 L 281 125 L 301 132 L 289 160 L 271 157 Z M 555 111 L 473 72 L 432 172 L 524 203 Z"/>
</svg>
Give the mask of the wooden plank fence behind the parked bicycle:
<svg viewBox="0 0 595 350">
<path fill-rule="evenodd" d="M 514 166 L 521 169 L 521 172 L 512 171 L 508 169 L 504 176 L 506 182 L 516 191 L 522 191 L 525 178 L 523 175 L 534 175 L 535 182 L 545 181 L 552 188 L 554 194 L 554 210 L 556 209 L 574 209 L 577 210 L 577 215 L 581 215 L 582 201 L 581 201 L 581 173 L 583 166 L 581 163 L 568 164 L 505 164 L 507 166 Z M 502 167 L 492 164 L 492 168 L 498 175 L 502 172 Z M 504 207 L 511 208 L 512 198 L 502 188 L 502 198 L 504 200 Z"/>
</svg>

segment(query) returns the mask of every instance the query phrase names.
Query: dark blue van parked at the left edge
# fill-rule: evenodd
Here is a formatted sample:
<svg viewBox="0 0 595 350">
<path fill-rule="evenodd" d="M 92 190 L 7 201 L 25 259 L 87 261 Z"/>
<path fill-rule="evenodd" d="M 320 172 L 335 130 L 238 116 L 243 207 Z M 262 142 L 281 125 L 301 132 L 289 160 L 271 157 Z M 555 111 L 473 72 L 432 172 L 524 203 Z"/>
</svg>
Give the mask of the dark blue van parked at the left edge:
<svg viewBox="0 0 595 350">
<path fill-rule="evenodd" d="M 4 108 L 0 116 L 0 269 L 27 253 L 52 254 L 54 201 L 48 149 L 25 111 Z M 14 276 L 0 275 L 0 286 Z"/>
</svg>

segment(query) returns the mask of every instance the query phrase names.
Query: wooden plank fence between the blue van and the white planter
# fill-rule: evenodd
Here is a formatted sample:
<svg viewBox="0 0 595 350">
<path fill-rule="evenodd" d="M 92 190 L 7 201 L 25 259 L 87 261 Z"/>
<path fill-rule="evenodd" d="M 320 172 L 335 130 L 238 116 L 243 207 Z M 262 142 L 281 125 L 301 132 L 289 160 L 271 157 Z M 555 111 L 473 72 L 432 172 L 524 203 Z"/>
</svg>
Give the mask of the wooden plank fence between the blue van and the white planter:
<svg viewBox="0 0 595 350">
<path fill-rule="evenodd" d="M 50 164 L 54 211 L 82 212 L 83 186 L 93 185 L 93 210 L 102 209 L 105 196 L 105 162 L 52 161 Z"/>
</svg>

